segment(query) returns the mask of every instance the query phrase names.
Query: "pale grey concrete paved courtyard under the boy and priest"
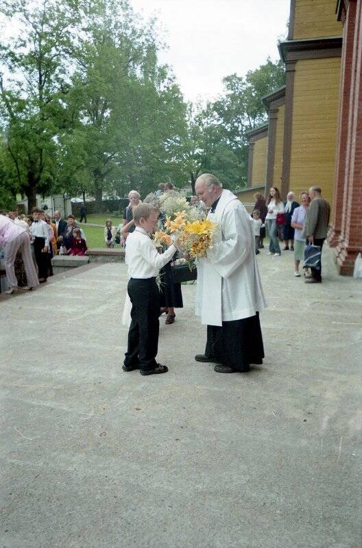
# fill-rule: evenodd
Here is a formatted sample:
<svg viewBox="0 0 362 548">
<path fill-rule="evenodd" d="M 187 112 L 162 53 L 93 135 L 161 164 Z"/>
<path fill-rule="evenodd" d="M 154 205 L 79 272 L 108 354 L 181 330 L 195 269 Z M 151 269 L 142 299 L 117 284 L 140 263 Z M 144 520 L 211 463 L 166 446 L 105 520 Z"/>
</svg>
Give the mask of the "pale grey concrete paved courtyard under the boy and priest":
<svg viewBox="0 0 362 548">
<path fill-rule="evenodd" d="M 123 373 L 124 264 L 0 299 L 1 548 L 361 548 L 362 280 L 258 256 L 265 364 L 198 364 L 185 308 L 167 375 Z"/>
</svg>

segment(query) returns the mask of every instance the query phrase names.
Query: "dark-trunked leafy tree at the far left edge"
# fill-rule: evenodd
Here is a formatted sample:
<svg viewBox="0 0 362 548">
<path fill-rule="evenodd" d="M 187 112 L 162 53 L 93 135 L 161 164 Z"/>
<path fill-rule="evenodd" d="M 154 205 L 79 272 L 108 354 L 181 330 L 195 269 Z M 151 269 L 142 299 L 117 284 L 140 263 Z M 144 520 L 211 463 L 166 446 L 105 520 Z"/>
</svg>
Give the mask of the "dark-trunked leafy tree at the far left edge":
<svg viewBox="0 0 362 548">
<path fill-rule="evenodd" d="M 20 25 L 18 36 L 0 47 L 0 62 L 10 75 L 0 75 L 0 112 L 17 186 L 31 210 L 36 193 L 51 188 L 56 175 L 74 13 L 55 0 L 43 0 L 40 7 L 8 0 L 0 13 Z"/>
</svg>

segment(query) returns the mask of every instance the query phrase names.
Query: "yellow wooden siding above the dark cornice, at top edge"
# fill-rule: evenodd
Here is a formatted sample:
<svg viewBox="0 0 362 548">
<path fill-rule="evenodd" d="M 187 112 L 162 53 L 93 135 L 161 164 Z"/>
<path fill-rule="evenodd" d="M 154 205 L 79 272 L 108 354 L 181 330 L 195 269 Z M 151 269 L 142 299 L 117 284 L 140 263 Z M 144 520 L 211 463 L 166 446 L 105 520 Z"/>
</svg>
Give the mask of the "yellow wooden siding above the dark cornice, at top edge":
<svg viewBox="0 0 362 548">
<path fill-rule="evenodd" d="M 294 0 L 293 40 L 341 36 L 343 27 L 335 14 L 336 0 Z"/>
</svg>

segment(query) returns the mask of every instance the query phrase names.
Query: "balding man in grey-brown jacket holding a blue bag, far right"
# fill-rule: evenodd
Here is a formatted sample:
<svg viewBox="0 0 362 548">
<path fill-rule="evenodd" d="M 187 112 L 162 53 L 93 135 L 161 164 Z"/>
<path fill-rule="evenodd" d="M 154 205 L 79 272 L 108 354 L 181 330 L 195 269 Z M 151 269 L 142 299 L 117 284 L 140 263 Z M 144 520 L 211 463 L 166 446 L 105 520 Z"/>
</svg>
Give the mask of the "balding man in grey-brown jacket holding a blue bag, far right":
<svg viewBox="0 0 362 548">
<path fill-rule="evenodd" d="M 302 236 L 306 238 L 307 244 L 323 247 L 324 240 L 327 237 L 330 206 L 328 201 L 322 198 L 322 188 L 320 186 L 311 186 L 309 188 L 309 198 L 311 203 L 306 212 L 304 229 Z M 306 284 L 320 284 L 322 282 L 322 262 L 319 269 L 311 268 L 311 278 L 304 280 Z"/>
</svg>

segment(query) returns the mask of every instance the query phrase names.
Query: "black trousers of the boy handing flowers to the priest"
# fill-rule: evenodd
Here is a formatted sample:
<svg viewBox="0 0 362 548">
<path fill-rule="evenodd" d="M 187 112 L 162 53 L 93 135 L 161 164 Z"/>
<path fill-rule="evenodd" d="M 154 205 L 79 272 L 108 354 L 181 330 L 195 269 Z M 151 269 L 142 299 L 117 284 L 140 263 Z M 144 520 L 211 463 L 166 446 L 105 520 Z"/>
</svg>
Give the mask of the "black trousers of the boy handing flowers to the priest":
<svg viewBox="0 0 362 548">
<path fill-rule="evenodd" d="M 128 349 L 125 366 L 137 366 L 142 371 L 154 369 L 157 365 L 158 332 L 160 323 L 160 291 L 156 278 L 136 279 L 128 282 L 130 295 L 131 325 L 128 332 Z"/>
</svg>

